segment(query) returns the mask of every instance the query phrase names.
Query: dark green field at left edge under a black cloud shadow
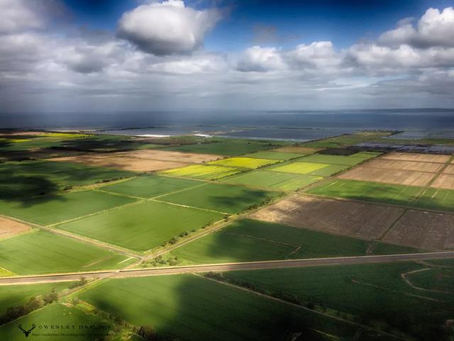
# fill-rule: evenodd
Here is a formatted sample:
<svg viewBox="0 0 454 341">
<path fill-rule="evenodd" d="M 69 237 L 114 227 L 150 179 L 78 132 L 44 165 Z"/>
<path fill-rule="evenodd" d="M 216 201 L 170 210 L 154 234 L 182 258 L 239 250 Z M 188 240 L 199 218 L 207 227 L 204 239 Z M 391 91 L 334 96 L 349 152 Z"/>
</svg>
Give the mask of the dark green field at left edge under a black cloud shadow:
<svg viewBox="0 0 454 341">
<path fill-rule="evenodd" d="M 53 194 L 67 186 L 84 186 L 131 175 L 132 172 L 71 162 L 4 162 L 0 163 L 0 200 Z"/>
</svg>

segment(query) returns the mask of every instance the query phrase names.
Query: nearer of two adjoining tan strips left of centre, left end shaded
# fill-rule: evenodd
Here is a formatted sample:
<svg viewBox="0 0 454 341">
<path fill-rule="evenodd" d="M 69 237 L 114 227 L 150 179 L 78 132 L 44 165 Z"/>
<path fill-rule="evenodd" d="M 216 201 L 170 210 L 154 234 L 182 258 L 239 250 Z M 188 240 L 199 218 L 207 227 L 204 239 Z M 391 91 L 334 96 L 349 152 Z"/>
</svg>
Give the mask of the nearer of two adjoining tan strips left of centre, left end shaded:
<svg viewBox="0 0 454 341">
<path fill-rule="evenodd" d="M 80 155 L 74 157 L 55 157 L 48 159 L 50 161 L 65 161 L 87 164 L 89 166 L 109 167 L 123 169 L 132 172 L 152 172 L 162 169 L 171 169 L 184 167 L 187 164 L 183 162 L 146 160 L 138 157 L 121 157 L 118 155 Z"/>
</svg>

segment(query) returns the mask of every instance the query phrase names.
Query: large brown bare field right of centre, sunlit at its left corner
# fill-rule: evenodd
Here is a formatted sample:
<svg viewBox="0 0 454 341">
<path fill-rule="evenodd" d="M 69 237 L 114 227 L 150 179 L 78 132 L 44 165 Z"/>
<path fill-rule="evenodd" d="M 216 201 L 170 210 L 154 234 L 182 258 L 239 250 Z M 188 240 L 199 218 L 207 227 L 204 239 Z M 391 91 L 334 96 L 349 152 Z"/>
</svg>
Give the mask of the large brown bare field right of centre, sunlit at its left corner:
<svg viewBox="0 0 454 341">
<path fill-rule="evenodd" d="M 250 218 L 362 239 L 380 237 L 403 208 L 310 196 L 290 196 Z"/>
</svg>

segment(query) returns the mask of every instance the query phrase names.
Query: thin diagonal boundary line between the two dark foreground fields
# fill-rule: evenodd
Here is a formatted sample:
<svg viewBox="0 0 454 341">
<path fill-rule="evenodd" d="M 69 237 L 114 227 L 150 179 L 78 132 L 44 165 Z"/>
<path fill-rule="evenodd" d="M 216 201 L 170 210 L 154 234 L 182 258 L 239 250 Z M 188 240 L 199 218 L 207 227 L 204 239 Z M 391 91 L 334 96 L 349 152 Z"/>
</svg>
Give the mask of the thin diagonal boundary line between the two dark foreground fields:
<svg viewBox="0 0 454 341">
<path fill-rule="evenodd" d="M 367 330 L 373 330 L 375 332 L 380 332 L 380 333 L 382 333 L 384 335 L 389 335 L 389 336 L 394 337 L 396 339 L 406 340 L 406 341 L 411 340 L 410 337 L 409 338 L 405 338 L 405 337 L 402 337 L 401 335 L 394 335 L 394 334 L 392 334 L 390 332 L 385 332 L 384 330 L 376 329 L 376 328 L 373 328 L 373 327 L 368 326 L 368 325 L 362 325 L 361 323 L 354 322 L 354 321 L 351 321 L 351 320 L 346 320 L 345 318 L 340 318 L 338 316 L 330 315 L 328 313 L 322 313 L 321 311 L 312 310 L 312 309 L 306 308 L 305 306 L 301 306 L 301 305 L 299 305 L 297 303 L 292 303 L 292 302 L 289 302 L 289 301 L 285 301 L 285 300 L 283 300 L 281 298 L 277 298 L 277 297 L 270 296 L 270 295 L 267 295 L 267 294 L 262 294 L 259 291 L 254 291 L 254 290 L 245 288 L 243 286 L 238 286 L 238 285 L 235 285 L 235 284 L 231 284 L 228 281 L 218 281 L 217 279 L 208 278 L 208 277 L 205 277 L 205 276 L 203 276 L 201 274 L 193 274 L 193 276 L 199 276 L 199 277 L 202 277 L 202 278 L 207 279 L 209 281 L 214 281 L 214 282 L 216 282 L 218 284 L 223 284 L 223 285 L 226 285 L 226 286 L 231 286 L 232 288 L 235 288 L 235 289 L 238 289 L 238 290 L 247 291 L 250 294 L 254 294 L 254 295 L 257 295 L 257 296 L 260 296 L 260 297 L 263 297 L 263 298 L 267 298 L 267 299 L 270 299 L 270 300 L 273 300 L 273 301 L 280 302 L 280 303 L 284 303 L 286 305 L 293 306 L 295 308 L 299 308 L 301 310 L 308 311 L 308 312 L 314 313 L 316 315 L 322 315 L 322 316 L 325 316 L 327 318 L 333 318 L 334 320 L 342 321 L 344 323 L 348 323 L 350 325 L 355 325 L 355 326 L 358 326 L 358 327 L 361 327 L 361 328 L 365 328 Z"/>
</svg>

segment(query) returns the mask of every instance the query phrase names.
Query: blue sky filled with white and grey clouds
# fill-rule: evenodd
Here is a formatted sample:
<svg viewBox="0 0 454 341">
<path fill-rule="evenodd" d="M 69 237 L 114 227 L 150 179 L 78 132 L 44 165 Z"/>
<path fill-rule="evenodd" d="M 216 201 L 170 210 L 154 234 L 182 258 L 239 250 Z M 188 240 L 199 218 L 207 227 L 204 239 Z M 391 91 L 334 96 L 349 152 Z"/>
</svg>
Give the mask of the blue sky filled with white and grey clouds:
<svg viewBox="0 0 454 341">
<path fill-rule="evenodd" d="M 0 0 L 0 112 L 454 108 L 453 6 Z"/>
</svg>

